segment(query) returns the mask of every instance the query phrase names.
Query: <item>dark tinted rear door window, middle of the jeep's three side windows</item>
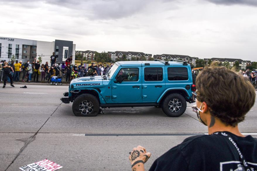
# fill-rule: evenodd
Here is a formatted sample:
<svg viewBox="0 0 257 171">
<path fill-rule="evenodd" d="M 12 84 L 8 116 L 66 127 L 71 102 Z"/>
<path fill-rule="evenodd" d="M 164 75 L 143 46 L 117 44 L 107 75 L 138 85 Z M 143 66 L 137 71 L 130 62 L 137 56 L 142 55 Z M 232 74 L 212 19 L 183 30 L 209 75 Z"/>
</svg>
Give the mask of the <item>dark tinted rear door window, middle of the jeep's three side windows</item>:
<svg viewBox="0 0 257 171">
<path fill-rule="evenodd" d="M 162 68 L 145 68 L 145 81 L 162 81 Z"/>
</svg>

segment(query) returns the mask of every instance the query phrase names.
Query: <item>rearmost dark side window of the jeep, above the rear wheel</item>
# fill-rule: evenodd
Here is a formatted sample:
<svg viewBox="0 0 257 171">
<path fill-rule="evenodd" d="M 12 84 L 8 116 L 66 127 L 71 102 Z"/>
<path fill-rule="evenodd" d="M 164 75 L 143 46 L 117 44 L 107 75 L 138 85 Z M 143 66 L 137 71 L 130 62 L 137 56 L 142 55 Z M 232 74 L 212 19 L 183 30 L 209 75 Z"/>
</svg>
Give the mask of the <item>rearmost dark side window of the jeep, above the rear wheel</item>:
<svg viewBox="0 0 257 171">
<path fill-rule="evenodd" d="M 168 80 L 179 81 L 188 80 L 188 72 L 185 67 L 169 67 L 168 68 Z"/>
</svg>

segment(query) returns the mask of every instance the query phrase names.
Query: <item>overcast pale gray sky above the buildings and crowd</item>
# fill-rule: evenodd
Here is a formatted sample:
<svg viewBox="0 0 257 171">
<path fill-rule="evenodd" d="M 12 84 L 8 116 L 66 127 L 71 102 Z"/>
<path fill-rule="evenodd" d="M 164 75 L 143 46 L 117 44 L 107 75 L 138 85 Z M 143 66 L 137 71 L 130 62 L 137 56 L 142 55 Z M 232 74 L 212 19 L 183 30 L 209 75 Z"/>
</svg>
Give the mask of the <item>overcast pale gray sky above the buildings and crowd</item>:
<svg viewBox="0 0 257 171">
<path fill-rule="evenodd" d="M 257 61 L 257 0 L 0 0 L 0 36 Z"/>
</svg>

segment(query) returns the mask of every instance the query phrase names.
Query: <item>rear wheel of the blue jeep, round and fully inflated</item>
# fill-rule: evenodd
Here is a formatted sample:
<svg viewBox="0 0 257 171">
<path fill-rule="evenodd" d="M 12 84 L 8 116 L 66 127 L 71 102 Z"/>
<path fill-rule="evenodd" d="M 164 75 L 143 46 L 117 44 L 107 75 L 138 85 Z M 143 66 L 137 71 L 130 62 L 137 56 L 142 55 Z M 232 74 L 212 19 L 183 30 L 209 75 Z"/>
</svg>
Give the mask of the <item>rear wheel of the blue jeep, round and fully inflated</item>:
<svg viewBox="0 0 257 171">
<path fill-rule="evenodd" d="M 186 111 L 186 100 L 181 94 L 170 94 L 162 102 L 162 110 L 169 117 L 179 117 Z"/>
</svg>

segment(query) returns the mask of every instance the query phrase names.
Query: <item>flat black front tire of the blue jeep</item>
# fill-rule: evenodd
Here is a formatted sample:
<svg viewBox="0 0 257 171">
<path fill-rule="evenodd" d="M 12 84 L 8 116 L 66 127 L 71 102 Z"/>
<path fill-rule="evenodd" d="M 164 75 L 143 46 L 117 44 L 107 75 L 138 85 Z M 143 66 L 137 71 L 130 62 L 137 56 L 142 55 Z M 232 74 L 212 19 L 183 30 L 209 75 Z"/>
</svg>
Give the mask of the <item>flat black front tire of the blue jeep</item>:
<svg viewBox="0 0 257 171">
<path fill-rule="evenodd" d="M 82 105 L 87 106 L 86 103 L 88 102 L 90 102 L 88 106 L 92 107 L 93 109 L 91 110 L 91 108 L 90 109 L 87 108 L 91 112 L 88 114 L 82 114 L 81 111 L 79 110 L 79 107 L 81 108 Z M 99 113 L 99 110 L 100 110 L 99 101 L 92 94 L 81 94 L 74 100 L 72 104 L 72 111 L 76 116 L 96 116 Z M 84 113 L 87 113 L 86 109 L 83 111 Z"/>
</svg>

